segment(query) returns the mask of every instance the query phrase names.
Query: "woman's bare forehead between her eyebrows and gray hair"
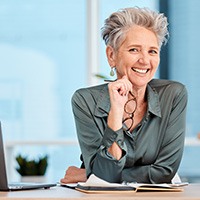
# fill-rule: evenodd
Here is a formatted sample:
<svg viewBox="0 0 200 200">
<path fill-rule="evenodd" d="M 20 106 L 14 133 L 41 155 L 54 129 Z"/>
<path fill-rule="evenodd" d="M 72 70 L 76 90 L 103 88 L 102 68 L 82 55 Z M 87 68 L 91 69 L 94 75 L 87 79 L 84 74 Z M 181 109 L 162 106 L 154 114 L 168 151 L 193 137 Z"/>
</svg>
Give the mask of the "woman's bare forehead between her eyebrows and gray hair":
<svg viewBox="0 0 200 200">
<path fill-rule="evenodd" d="M 156 34 L 141 26 L 133 26 L 125 33 L 125 38 L 121 46 L 127 45 L 159 47 Z"/>
</svg>

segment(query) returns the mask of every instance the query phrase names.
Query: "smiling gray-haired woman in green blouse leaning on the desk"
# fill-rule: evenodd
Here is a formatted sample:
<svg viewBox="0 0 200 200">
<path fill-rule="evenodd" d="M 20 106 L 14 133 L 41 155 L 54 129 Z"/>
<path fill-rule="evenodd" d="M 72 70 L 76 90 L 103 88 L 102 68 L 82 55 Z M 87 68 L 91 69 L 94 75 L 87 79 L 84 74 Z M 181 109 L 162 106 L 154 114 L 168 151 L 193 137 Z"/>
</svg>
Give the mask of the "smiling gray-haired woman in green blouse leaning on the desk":
<svg viewBox="0 0 200 200">
<path fill-rule="evenodd" d="M 149 9 L 125 8 L 105 20 L 102 37 L 117 80 L 73 95 L 86 169 L 78 179 L 95 174 L 109 182 L 170 183 L 176 174 L 187 91 L 181 83 L 153 79 L 167 36 L 166 17 Z M 61 181 L 68 175 L 70 169 Z"/>
</svg>

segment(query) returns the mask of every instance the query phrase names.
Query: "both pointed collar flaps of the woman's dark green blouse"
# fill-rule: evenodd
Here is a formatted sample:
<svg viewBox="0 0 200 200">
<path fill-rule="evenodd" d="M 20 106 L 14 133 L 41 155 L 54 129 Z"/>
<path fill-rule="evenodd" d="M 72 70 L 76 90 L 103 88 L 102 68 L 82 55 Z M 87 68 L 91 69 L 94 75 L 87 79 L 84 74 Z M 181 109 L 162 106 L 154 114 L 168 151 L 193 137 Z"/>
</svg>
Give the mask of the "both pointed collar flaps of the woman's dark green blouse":
<svg viewBox="0 0 200 200">
<path fill-rule="evenodd" d="M 161 117 L 161 109 L 159 102 L 159 95 L 150 84 L 147 85 L 147 101 L 148 111 L 152 114 Z M 98 117 L 107 116 L 110 110 L 110 96 L 108 92 L 108 85 L 105 84 L 99 93 L 94 115 Z"/>
</svg>

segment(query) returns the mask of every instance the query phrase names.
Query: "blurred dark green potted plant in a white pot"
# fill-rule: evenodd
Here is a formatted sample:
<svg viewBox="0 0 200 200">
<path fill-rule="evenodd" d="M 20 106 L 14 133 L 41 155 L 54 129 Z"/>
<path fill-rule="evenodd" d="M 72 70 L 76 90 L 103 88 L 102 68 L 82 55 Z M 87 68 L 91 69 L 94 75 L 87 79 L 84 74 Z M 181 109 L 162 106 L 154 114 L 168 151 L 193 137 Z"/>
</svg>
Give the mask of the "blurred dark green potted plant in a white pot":
<svg viewBox="0 0 200 200">
<path fill-rule="evenodd" d="M 21 175 L 22 182 L 43 182 L 48 166 L 48 156 L 40 156 L 38 159 L 28 159 L 27 156 L 16 157 L 17 172 Z"/>
</svg>

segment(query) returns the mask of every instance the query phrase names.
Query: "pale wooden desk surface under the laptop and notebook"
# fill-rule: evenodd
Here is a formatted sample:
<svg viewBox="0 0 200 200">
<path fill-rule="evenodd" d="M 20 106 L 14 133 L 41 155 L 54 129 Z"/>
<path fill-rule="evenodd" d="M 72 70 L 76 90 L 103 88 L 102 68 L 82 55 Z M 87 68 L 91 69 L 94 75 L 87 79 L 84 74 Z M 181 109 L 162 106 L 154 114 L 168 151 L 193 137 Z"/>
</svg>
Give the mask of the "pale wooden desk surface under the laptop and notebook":
<svg viewBox="0 0 200 200">
<path fill-rule="evenodd" d="M 183 192 L 137 192 L 123 194 L 85 194 L 76 190 L 53 187 L 51 189 L 0 192 L 1 200 L 200 200 L 200 184 L 190 184 L 184 188 Z"/>
</svg>

